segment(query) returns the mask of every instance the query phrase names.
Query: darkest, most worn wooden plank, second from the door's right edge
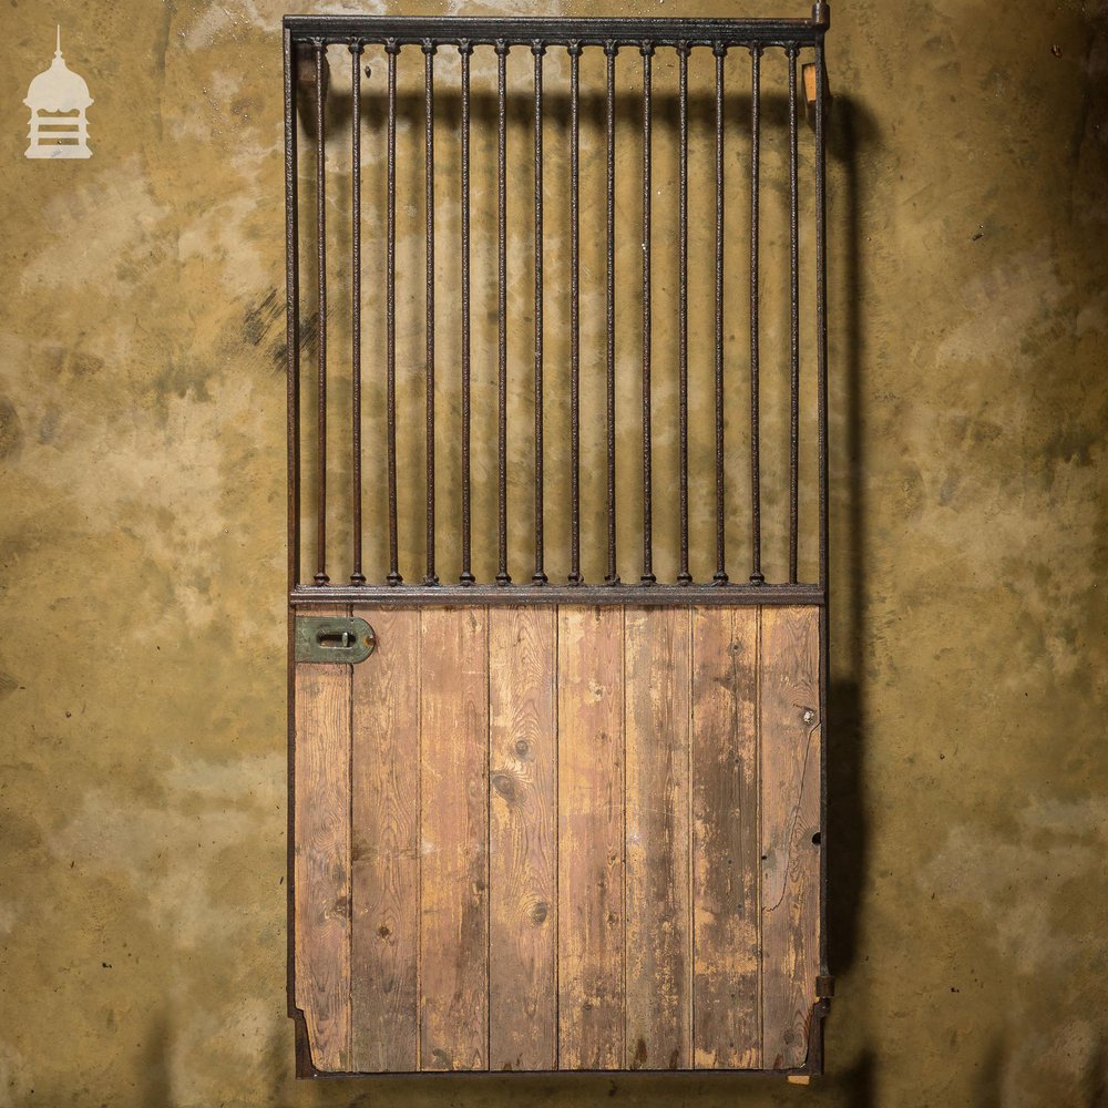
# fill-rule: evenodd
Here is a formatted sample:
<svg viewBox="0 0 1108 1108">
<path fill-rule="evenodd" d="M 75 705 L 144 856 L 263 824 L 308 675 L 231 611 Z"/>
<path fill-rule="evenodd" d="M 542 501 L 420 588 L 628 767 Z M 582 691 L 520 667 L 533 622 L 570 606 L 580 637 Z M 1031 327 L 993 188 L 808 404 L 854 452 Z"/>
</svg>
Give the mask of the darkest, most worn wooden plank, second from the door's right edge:
<svg viewBox="0 0 1108 1108">
<path fill-rule="evenodd" d="M 758 609 L 693 617 L 694 1063 L 761 1067 Z"/>
</svg>

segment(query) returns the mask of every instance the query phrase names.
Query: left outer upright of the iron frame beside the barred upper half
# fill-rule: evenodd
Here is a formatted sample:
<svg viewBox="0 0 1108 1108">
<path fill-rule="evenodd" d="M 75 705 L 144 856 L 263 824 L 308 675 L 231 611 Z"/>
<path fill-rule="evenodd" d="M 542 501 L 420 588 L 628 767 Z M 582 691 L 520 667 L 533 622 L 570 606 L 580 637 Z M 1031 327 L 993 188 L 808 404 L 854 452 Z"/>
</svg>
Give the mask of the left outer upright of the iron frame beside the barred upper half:
<svg viewBox="0 0 1108 1108">
<path fill-rule="evenodd" d="M 288 366 L 288 587 L 300 584 L 300 247 L 297 211 L 297 52 L 285 31 L 285 357 Z"/>
</svg>

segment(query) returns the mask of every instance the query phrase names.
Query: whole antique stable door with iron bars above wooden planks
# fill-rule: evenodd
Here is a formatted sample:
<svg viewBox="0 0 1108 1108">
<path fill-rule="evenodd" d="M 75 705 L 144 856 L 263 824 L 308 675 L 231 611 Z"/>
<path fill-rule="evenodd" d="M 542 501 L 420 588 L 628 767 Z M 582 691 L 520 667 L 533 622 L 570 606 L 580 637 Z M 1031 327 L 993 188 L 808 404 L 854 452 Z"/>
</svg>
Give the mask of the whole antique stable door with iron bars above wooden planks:
<svg viewBox="0 0 1108 1108">
<path fill-rule="evenodd" d="M 301 1076 L 821 1070 L 828 22 L 285 20 Z"/>
</svg>

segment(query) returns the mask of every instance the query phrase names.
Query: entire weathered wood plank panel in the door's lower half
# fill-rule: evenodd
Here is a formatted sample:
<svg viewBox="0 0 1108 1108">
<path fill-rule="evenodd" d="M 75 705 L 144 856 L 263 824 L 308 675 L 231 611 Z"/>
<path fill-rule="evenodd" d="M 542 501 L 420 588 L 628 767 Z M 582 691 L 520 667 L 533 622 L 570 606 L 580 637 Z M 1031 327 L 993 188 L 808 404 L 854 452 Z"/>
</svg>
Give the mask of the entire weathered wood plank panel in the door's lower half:
<svg viewBox="0 0 1108 1108">
<path fill-rule="evenodd" d="M 295 675 L 314 1064 L 802 1066 L 818 609 L 362 614 L 370 659 Z"/>
</svg>

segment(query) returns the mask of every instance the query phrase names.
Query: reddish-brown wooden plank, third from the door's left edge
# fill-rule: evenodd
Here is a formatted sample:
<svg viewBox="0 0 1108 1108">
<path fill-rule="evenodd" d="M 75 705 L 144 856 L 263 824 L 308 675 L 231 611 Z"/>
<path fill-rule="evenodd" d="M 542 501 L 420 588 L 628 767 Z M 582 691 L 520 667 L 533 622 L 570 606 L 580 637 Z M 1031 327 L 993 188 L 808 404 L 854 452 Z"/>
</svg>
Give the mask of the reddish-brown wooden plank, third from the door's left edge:
<svg viewBox="0 0 1108 1108">
<path fill-rule="evenodd" d="M 420 1068 L 488 1065 L 485 608 L 421 613 Z"/>
</svg>

